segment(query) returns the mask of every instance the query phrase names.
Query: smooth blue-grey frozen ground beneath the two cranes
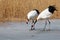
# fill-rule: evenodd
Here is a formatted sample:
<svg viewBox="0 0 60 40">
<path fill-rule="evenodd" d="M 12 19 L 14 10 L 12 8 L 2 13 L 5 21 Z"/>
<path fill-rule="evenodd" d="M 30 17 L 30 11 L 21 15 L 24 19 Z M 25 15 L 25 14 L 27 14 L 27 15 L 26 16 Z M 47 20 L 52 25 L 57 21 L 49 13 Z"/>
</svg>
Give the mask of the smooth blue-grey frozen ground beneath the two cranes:
<svg viewBox="0 0 60 40">
<path fill-rule="evenodd" d="M 37 22 L 35 31 L 29 31 L 29 24 L 25 22 L 0 23 L 0 40 L 60 40 L 60 19 L 51 20 L 51 31 L 42 31 L 44 21 Z"/>
</svg>

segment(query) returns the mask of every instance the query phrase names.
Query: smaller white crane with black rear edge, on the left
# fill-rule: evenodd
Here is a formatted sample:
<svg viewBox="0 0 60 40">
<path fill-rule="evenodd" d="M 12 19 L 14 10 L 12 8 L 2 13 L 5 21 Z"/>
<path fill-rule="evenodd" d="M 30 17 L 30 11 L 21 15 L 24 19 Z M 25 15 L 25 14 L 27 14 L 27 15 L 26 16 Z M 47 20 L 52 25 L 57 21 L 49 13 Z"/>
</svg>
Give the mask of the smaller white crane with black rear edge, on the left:
<svg viewBox="0 0 60 40">
<path fill-rule="evenodd" d="M 28 24 L 28 22 L 31 20 L 32 23 L 34 23 L 34 19 L 35 17 L 37 17 L 39 15 L 39 11 L 37 9 L 33 9 L 31 10 L 28 14 L 27 14 L 27 20 L 26 20 L 26 24 Z M 31 27 L 31 30 L 33 30 L 35 28 Z"/>
</svg>

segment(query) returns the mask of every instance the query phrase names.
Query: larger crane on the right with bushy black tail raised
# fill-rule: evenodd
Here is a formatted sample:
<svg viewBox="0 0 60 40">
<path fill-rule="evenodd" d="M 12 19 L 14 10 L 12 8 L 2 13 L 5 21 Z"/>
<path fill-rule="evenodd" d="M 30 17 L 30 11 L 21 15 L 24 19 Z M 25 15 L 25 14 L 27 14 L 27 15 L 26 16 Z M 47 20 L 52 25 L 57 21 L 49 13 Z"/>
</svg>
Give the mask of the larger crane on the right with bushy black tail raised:
<svg viewBox="0 0 60 40">
<path fill-rule="evenodd" d="M 34 25 L 36 24 L 36 22 L 40 19 L 46 19 L 45 21 L 45 26 L 43 28 L 43 30 L 46 29 L 46 25 L 47 25 L 47 22 L 49 23 L 50 25 L 50 21 L 49 21 L 49 18 L 52 16 L 52 14 L 54 13 L 54 11 L 56 10 L 56 7 L 55 5 L 50 5 L 48 8 L 46 8 L 45 10 L 43 10 L 37 17 L 37 19 L 35 20 L 34 24 L 32 24 L 31 26 L 34 27 Z M 57 11 L 57 10 L 56 10 Z M 50 30 L 50 27 L 49 29 Z"/>
</svg>

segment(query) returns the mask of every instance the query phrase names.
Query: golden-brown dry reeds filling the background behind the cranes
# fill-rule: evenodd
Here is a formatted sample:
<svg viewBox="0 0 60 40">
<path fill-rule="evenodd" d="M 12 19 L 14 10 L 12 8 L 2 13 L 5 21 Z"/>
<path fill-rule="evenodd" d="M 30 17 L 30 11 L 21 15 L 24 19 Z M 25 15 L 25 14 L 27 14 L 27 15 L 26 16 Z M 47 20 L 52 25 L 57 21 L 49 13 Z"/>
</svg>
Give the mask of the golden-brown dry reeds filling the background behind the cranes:
<svg viewBox="0 0 60 40">
<path fill-rule="evenodd" d="M 41 12 L 49 5 L 58 10 L 51 18 L 60 18 L 60 0 L 0 0 L 0 21 L 24 21 L 30 10 Z"/>
</svg>

